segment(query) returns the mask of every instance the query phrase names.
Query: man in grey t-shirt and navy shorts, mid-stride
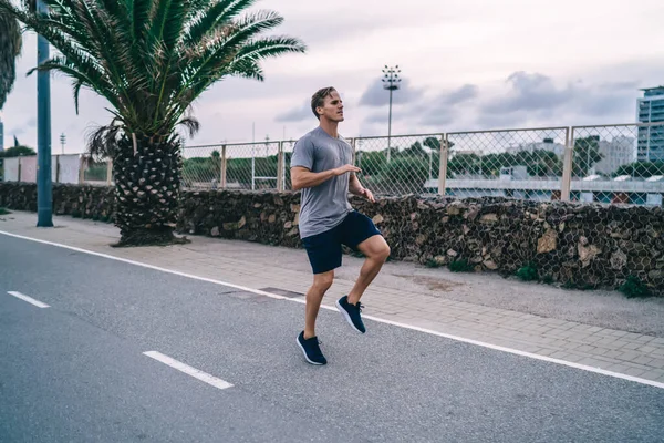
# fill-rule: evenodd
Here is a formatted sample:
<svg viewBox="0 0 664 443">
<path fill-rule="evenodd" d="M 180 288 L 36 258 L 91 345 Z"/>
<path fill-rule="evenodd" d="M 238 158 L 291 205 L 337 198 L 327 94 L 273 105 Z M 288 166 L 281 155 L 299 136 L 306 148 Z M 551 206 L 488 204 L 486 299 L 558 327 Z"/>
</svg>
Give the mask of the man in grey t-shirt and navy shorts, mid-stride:
<svg viewBox="0 0 664 443">
<path fill-rule="evenodd" d="M 307 291 L 304 330 L 298 344 L 311 364 L 328 361 L 319 347 L 315 319 L 323 296 L 332 286 L 334 269 L 341 266 L 342 245 L 366 257 L 360 277 L 347 296 L 336 301 L 345 320 L 364 333 L 360 298 L 390 256 L 390 247 L 373 222 L 351 207 L 351 194 L 375 202 L 373 194 L 357 179 L 352 147 L 339 135 L 343 122 L 343 102 L 334 87 L 318 91 L 311 110 L 319 127 L 298 141 L 291 158 L 293 190 L 302 189 L 300 237 L 313 270 L 313 285 Z"/>
</svg>

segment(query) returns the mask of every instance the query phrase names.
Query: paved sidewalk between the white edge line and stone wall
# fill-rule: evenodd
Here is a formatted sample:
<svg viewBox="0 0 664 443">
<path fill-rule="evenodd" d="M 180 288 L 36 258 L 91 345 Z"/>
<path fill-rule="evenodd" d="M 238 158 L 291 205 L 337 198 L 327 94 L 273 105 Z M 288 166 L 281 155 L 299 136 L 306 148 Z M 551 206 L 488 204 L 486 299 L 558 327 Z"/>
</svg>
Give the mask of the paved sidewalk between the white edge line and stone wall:
<svg viewBox="0 0 664 443">
<path fill-rule="evenodd" d="M 55 228 L 43 229 L 35 222 L 35 214 L 13 212 L 0 216 L 0 230 L 288 297 L 303 297 L 311 281 L 303 250 L 207 237 L 116 249 L 112 225 L 54 217 Z M 325 305 L 350 290 L 361 265 L 344 256 Z M 664 382 L 664 299 L 388 262 L 362 301 L 364 313 L 385 320 Z"/>
</svg>

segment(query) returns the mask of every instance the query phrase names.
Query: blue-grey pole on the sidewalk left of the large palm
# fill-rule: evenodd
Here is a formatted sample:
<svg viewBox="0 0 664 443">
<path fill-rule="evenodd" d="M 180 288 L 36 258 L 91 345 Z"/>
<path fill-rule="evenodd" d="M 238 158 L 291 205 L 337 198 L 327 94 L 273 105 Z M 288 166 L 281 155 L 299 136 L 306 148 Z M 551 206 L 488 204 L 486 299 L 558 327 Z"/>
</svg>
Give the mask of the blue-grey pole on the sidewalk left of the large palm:
<svg viewBox="0 0 664 443">
<path fill-rule="evenodd" d="M 42 0 L 37 0 L 40 16 L 48 13 Z M 37 37 L 37 64 L 49 60 L 49 42 Z M 37 226 L 53 226 L 53 188 L 51 183 L 51 74 L 37 72 Z"/>
</svg>

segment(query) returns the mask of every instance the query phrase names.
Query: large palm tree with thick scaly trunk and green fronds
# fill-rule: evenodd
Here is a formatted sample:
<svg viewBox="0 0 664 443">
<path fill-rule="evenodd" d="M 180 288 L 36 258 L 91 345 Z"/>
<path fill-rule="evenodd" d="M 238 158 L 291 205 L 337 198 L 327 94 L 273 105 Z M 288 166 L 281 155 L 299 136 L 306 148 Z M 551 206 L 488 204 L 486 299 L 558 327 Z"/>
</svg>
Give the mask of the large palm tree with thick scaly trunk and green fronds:
<svg viewBox="0 0 664 443">
<path fill-rule="evenodd" d="M 256 0 L 43 1 L 44 16 L 11 0 L 0 0 L 0 14 L 12 14 L 59 51 L 37 69 L 72 79 L 76 112 L 82 87 L 110 103 L 112 121 L 90 135 L 89 152 L 113 159 L 118 246 L 173 243 L 183 147 L 177 127 L 190 136 L 198 131 L 191 103 L 227 76 L 262 81 L 260 61 L 304 52 L 304 44 L 260 37 L 283 19 L 245 12 Z"/>
</svg>

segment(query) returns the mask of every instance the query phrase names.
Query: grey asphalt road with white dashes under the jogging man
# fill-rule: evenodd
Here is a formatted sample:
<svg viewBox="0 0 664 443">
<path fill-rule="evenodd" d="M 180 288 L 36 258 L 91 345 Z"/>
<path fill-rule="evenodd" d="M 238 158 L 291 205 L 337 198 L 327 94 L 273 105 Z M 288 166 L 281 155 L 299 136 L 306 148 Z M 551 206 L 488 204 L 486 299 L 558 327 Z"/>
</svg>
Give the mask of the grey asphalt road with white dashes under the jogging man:
<svg viewBox="0 0 664 443">
<path fill-rule="evenodd" d="M 0 235 L 0 442 L 664 440 L 662 389 L 338 312 L 309 365 L 303 309 Z"/>
</svg>

